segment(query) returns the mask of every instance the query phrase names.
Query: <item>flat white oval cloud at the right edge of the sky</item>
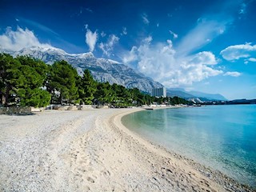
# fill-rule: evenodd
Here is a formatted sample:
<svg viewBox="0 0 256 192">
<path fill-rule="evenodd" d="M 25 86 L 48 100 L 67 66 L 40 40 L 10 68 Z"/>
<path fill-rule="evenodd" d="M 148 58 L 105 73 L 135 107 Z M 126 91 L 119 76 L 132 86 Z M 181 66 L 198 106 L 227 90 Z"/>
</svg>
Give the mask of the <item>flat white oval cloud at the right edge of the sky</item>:
<svg viewBox="0 0 256 192">
<path fill-rule="evenodd" d="M 225 50 L 221 51 L 221 54 L 222 57 L 228 61 L 234 61 L 240 58 L 249 58 L 246 61 L 250 61 L 250 58 L 256 57 L 256 45 L 252 46 L 250 43 L 246 43 L 242 45 L 228 46 Z"/>
</svg>

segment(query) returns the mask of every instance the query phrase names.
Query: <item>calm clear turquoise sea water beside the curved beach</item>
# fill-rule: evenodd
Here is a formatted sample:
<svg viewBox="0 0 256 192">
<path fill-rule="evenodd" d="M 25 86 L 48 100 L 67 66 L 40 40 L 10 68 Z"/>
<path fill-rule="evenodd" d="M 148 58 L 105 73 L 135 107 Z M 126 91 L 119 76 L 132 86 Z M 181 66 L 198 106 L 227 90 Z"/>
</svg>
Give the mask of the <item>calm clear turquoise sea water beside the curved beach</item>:
<svg viewBox="0 0 256 192">
<path fill-rule="evenodd" d="M 122 122 L 152 142 L 256 187 L 256 105 L 143 110 Z"/>
</svg>

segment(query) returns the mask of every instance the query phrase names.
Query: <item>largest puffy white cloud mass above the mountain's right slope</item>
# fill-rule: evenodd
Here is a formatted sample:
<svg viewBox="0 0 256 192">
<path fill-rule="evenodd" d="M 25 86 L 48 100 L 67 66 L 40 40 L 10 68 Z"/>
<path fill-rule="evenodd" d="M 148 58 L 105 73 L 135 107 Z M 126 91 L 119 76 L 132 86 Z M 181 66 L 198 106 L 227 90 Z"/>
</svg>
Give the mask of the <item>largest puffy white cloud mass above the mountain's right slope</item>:
<svg viewBox="0 0 256 192">
<path fill-rule="evenodd" d="M 222 70 L 214 69 L 213 65 L 217 61 L 211 52 L 181 57 L 177 55 L 170 39 L 157 44 L 152 44 L 152 40 L 151 36 L 143 39 L 140 46 L 133 46 L 124 54 L 122 61 L 164 86 L 191 86 L 193 82 L 223 73 Z"/>
</svg>

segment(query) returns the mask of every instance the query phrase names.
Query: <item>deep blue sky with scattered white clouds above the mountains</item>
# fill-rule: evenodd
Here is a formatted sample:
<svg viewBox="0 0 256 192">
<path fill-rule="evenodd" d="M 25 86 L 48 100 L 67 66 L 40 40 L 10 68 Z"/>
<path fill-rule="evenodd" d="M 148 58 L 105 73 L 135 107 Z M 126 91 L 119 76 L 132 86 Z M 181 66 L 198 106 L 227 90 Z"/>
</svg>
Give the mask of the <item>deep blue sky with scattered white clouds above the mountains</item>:
<svg viewBox="0 0 256 192">
<path fill-rule="evenodd" d="M 0 48 L 122 62 L 168 88 L 256 98 L 256 0 L 0 0 Z"/>
</svg>

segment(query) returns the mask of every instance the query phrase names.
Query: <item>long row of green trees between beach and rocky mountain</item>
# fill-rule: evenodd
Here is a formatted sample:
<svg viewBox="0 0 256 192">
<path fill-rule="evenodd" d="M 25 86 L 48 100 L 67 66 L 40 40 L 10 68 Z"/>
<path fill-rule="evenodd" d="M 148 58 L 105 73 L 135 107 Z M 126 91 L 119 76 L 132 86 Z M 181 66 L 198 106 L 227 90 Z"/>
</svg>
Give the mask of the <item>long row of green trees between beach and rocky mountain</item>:
<svg viewBox="0 0 256 192">
<path fill-rule="evenodd" d="M 138 88 L 109 82 L 97 82 L 84 70 L 79 76 L 66 61 L 47 65 L 28 56 L 13 58 L 0 54 L 0 102 L 2 106 L 35 106 L 52 104 L 97 104 L 113 107 L 150 105 L 153 102 L 188 104 L 183 98 L 155 98 Z"/>
</svg>

